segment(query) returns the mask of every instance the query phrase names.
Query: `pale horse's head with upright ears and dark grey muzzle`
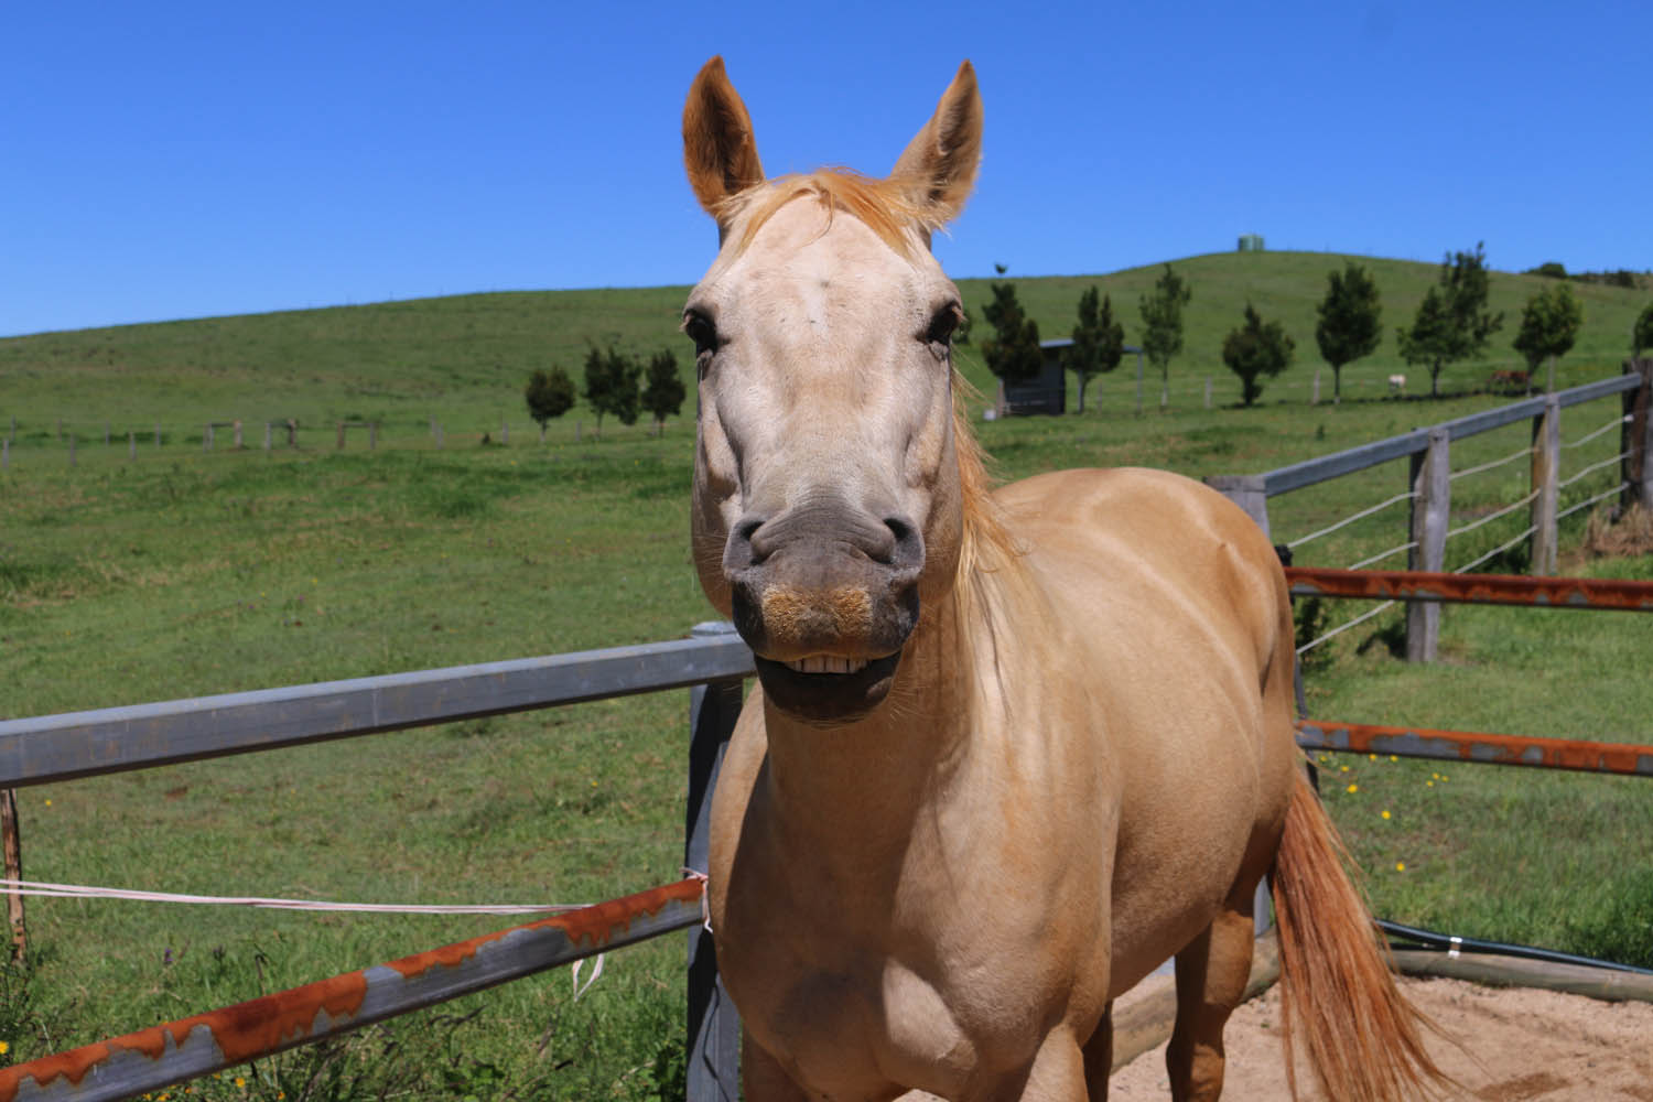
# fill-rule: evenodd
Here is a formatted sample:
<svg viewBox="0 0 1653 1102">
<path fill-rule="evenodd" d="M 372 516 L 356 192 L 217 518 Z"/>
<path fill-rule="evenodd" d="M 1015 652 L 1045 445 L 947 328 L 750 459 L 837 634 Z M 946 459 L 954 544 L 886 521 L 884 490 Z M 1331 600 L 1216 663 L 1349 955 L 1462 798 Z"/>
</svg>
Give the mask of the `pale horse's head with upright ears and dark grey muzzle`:
<svg viewBox="0 0 1653 1102">
<path fill-rule="evenodd" d="M 959 567 L 964 312 L 929 235 L 964 207 L 980 137 L 969 61 L 884 180 L 765 182 L 721 58 L 683 112 L 689 182 L 722 243 L 683 309 L 699 372 L 694 560 L 769 701 L 815 724 L 884 699 L 921 603 Z"/>
</svg>

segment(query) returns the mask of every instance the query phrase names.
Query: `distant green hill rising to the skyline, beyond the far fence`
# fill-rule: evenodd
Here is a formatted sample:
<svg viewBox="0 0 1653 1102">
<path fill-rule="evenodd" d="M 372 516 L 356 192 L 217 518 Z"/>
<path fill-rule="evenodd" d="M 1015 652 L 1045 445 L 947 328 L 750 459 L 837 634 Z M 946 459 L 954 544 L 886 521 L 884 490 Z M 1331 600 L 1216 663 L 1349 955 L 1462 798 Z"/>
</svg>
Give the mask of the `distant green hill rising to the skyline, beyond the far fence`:
<svg viewBox="0 0 1653 1102">
<path fill-rule="evenodd" d="M 1326 294 L 1326 274 L 1347 259 L 1331 253 L 1213 253 L 1174 261 L 1193 289 L 1185 350 L 1170 367 L 1174 395 L 1198 400 L 1212 377 L 1217 401 L 1236 400 L 1238 382 L 1223 368 L 1218 350 L 1250 301 L 1265 317 L 1284 321 L 1298 342 L 1296 362 L 1268 383 L 1263 400 L 1308 400 L 1314 372 L 1324 368 L 1314 344 L 1314 307 Z M 1346 368 L 1346 395 L 1384 393 L 1384 380 L 1397 372 L 1415 380 L 1410 390 L 1425 390 L 1428 373 L 1400 360 L 1393 332 L 1410 322 L 1438 266 L 1355 259 L 1377 278 L 1385 335 L 1372 357 Z M 1137 301 L 1160 271 L 1155 264 L 1108 276 L 1013 283 L 1045 337 L 1071 332 L 1079 294 L 1096 284 L 1112 297 L 1131 344 L 1141 334 Z M 960 283 L 984 329 L 988 283 Z M 1511 340 L 1522 302 L 1541 286 L 1541 276 L 1493 274 L 1491 306 L 1504 312 L 1504 329 L 1488 359 L 1446 368 L 1443 390 L 1478 390 L 1494 367 L 1519 365 Z M 1575 289 L 1585 324 L 1562 360 L 1560 385 L 1617 372 L 1630 325 L 1650 297 L 1623 287 Z M 526 431 L 521 390 L 527 375 L 562 365 L 579 380 L 592 344 L 612 342 L 638 355 L 671 349 L 688 378 L 688 342 L 676 332 L 686 292 L 641 287 L 469 294 L 12 337 L 0 340 L 0 418 L 15 416 L 25 441 L 55 436 L 60 418 L 66 431 L 83 436 L 101 435 L 106 423 L 119 436 L 127 428 L 152 430 L 159 421 L 164 430 L 193 430 L 197 439 L 203 421 L 236 418 L 248 425 L 370 418 L 385 423 L 387 431 L 412 431 L 428 428 L 436 416 L 450 431 L 478 435 L 504 418 Z M 979 355 L 967 349 L 960 360 L 977 385 L 990 388 Z M 1131 367 L 1127 360 L 1114 378 L 1101 382 L 1104 400 L 1122 392 L 1121 378 L 1131 375 Z M 1322 393 L 1331 393 L 1329 370 Z M 592 418 L 584 403 L 554 431 L 572 435 L 572 421 L 582 418 Z"/>
</svg>

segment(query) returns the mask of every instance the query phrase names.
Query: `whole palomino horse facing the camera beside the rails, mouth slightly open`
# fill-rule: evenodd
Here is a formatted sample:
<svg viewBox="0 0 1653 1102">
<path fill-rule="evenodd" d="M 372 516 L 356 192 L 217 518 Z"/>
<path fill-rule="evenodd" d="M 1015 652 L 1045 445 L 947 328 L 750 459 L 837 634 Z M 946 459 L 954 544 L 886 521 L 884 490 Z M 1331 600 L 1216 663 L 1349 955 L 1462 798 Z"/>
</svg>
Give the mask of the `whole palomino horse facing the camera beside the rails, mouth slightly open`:
<svg viewBox="0 0 1653 1102">
<path fill-rule="evenodd" d="M 760 682 L 709 867 L 746 1095 L 1101 1099 L 1112 1000 L 1175 955 L 1172 1094 L 1215 1099 L 1265 876 L 1329 1097 L 1427 1085 L 1293 740 L 1268 540 L 1155 471 L 988 486 L 929 253 L 980 134 L 969 63 L 884 180 L 765 180 L 719 58 L 683 116 L 721 235 L 694 562 Z"/>
</svg>

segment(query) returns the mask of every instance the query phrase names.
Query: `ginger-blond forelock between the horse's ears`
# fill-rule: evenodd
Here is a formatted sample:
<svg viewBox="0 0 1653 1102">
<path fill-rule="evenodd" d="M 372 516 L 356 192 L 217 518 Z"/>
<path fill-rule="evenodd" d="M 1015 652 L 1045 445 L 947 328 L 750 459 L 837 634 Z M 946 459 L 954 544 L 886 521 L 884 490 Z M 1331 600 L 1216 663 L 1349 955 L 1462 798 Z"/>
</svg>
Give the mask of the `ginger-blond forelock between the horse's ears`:
<svg viewBox="0 0 1653 1102">
<path fill-rule="evenodd" d="M 764 180 L 722 200 L 714 213 L 719 225 L 731 226 L 739 235 L 734 240 L 734 253 L 739 254 L 752 245 L 752 238 L 777 210 L 795 198 L 815 198 L 826 208 L 828 220 L 843 210 L 898 254 L 912 259 L 914 251 L 941 228 L 936 205 L 914 200 L 912 195 L 912 182 L 906 177 L 876 178 L 853 169 L 817 169 Z"/>
</svg>

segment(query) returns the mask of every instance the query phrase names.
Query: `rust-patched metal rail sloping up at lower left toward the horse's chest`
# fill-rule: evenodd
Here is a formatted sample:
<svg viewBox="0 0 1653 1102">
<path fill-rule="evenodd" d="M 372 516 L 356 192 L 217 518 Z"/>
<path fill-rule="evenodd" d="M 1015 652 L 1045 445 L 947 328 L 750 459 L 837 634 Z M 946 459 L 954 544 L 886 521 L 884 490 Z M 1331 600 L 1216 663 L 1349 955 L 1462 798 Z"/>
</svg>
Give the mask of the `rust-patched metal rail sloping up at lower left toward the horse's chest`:
<svg viewBox="0 0 1653 1102">
<path fill-rule="evenodd" d="M 126 1099 L 701 922 L 679 881 L 0 1069 L 0 1102 Z"/>
</svg>

